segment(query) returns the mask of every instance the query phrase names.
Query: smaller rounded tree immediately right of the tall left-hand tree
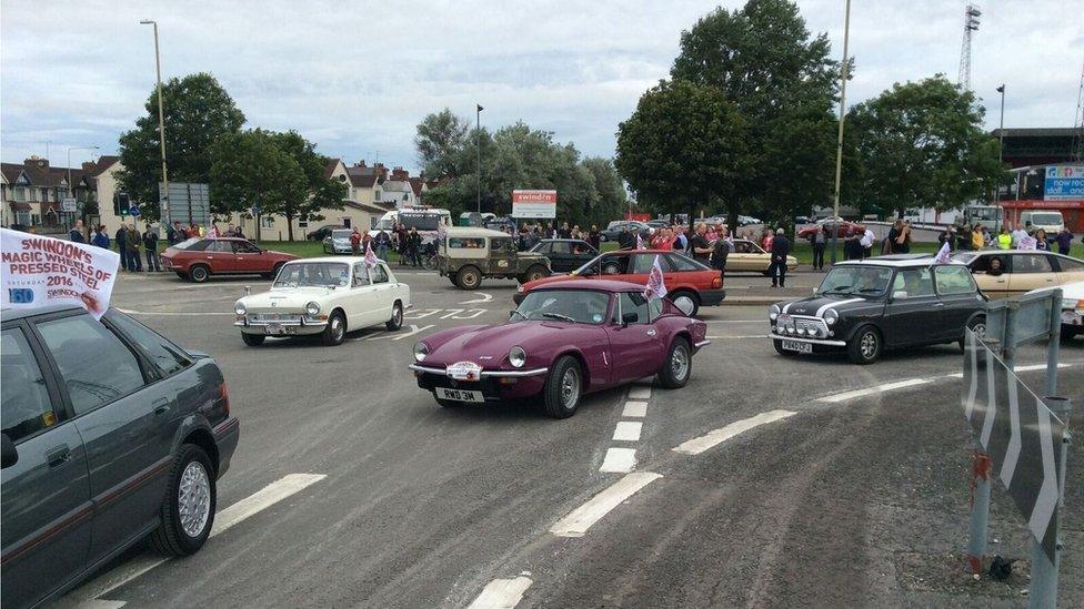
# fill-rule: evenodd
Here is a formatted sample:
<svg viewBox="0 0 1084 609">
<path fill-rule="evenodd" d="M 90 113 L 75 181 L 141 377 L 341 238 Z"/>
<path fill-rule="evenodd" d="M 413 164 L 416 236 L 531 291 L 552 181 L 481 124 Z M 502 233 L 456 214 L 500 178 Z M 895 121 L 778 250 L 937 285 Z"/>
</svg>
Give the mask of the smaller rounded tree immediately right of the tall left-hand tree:
<svg viewBox="0 0 1084 609">
<path fill-rule="evenodd" d="M 219 138 L 211 149 L 211 196 L 234 209 L 297 216 L 309 195 L 304 170 L 275 140 L 259 129 Z M 288 230 L 292 241 L 292 222 Z"/>
</svg>

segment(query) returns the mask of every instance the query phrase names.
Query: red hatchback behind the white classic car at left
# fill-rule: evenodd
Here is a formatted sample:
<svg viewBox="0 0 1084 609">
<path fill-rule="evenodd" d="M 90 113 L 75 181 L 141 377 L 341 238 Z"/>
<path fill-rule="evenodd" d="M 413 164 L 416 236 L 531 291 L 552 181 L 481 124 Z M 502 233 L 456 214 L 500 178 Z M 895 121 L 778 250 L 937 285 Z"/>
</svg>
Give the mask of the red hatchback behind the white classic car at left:
<svg viewBox="0 0 1084 609">
<path fill-rule="evenodd" d="M 270 280 L 298 256 L 261 250 L 245 238 L 190 238 L 162 252 L 162 264 L 182 280 L 203 283 L 211 275 L 262 275 Z"/>
</svg>

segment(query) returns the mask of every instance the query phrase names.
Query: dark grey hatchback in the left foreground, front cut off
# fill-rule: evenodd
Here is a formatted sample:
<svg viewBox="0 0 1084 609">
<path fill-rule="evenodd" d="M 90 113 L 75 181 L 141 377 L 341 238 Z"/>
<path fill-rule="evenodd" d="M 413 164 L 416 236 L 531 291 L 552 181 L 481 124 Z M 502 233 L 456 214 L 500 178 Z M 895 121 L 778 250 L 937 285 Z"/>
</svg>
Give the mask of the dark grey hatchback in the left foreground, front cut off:
<svg viewBox="0 0 1084 609">
<path fill-rule="evenodd" d="M 0 602 L 33 606 L 148 535 L 199 550 L 237 448 L 222 372 L 117 311 L 0 324 Z"/>
</svg>

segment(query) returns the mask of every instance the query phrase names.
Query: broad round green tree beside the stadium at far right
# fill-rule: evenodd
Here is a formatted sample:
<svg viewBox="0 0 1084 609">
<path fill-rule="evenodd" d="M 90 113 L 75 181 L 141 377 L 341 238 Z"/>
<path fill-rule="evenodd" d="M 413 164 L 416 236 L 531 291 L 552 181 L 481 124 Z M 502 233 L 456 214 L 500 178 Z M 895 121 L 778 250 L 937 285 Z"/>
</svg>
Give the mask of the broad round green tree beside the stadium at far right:
<svg viewBox="0 0 1084 609">
<path fill-rule="evenodd" d="M 847 196 L 869 211 L 946 210 L 987 195 L 1004 180 L 984 109 L 942 74 L 896 83 L 847 115 L 856 171 Z"/>
</svg>

